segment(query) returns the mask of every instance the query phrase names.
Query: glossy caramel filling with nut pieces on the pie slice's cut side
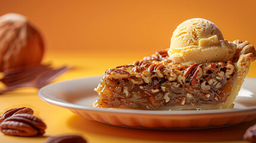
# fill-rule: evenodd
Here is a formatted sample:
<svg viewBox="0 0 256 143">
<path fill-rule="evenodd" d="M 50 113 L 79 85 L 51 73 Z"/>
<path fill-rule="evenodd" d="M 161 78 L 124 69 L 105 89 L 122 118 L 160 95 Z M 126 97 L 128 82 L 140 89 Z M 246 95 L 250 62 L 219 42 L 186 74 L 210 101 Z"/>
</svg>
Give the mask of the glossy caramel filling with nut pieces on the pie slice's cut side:
<svg viewBox="0 0 256 143">
<path fill-rule="evenodd" d="M 95 102 L 94 107 L 158 110 L 172 106 L 221 104 L 229 96 L 235 80 L 234 68 L 232 73 L 226 74 L 230 70 L 230 64 L 232 63 L 221 62 L 181 66 L 173 73 L 169 72 L 173 69 L 164 69 L 161 70 L 163 77 L 157 76 L 159 73 L 155 68 L 151 71 L 152 76 L 148 83 L 145 83 L 146 80 L 140 82 L 142 79 L 135 76 L 122 76 L 121 79 L 104 76 L 96 89 L 100 98 Z M 150 71 L 150 66 L 144 70 Z M 115 72 L 118 70 L 115 69 Z M 174 74 L 176 79 L 171 78 Z"/>
</svg>

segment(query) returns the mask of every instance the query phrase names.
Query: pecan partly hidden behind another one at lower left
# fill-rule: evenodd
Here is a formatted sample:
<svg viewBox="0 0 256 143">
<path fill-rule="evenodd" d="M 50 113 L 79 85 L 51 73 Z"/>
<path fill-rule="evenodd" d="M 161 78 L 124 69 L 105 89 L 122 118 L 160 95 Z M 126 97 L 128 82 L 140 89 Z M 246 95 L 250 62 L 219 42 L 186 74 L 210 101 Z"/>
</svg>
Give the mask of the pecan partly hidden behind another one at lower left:
<svg viewBox="0 0 256 143">
<path fill-rule="evenodd" d="M 32 108 L 29 108 L 29 107 L 13 108 L 13 109 L 5 111 L 1 115 L 0 123 L 2 123 L 8 117 L 13 116 L 14 114 L 33 114 L 33 113 L 34 113 L 34 111 L 32 110 Z"/>
</svg>

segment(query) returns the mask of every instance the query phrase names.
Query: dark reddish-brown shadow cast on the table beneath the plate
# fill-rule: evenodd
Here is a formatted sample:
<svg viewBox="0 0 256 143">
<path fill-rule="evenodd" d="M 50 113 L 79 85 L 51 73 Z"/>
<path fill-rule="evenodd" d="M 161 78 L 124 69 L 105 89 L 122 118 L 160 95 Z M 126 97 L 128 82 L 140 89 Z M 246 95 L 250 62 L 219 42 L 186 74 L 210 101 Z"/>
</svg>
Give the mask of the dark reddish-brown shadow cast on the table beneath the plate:
<svg viewBox="0 0 256 143">
<path fill-rule="evenodd" d="M 129 129 L 116 126 L 104 125 L 103 123 L 85 119 L 80 116 L 72 116 L 68 120 L 71 128 L 82 132 L 95 133 L 97 135 L 109 136 L 111 138 L 141 139 L 146 141 L 242 141 L 243 134 L 249 126 L 256 123 L 256 120 L 242 123 L 235 126 L 217 129 L 202 130 L 150 130 L 150 129 Z"/>
</svg>

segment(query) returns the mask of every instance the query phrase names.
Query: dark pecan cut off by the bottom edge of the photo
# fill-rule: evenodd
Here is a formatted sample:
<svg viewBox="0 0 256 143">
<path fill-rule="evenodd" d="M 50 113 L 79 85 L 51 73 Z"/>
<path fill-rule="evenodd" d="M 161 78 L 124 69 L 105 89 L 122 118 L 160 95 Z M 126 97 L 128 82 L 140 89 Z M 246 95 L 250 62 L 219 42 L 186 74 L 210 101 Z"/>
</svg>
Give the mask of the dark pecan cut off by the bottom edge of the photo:
<svg viewBox="0 0 256 143">
<path fill-rule="evenodd" d="M 87 143 L 82 136 L 78 135 L 63 135 L 63 136 L 56 136 L 54 138 L 51 138 L 47 143 Z"/>
</svg>

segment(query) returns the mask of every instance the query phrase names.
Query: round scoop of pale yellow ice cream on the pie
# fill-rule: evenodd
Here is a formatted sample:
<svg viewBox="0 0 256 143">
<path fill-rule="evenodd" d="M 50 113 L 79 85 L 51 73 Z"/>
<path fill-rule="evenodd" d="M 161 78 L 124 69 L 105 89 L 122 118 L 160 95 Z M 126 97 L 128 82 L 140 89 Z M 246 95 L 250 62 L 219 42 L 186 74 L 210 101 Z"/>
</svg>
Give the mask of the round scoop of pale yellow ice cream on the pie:
<svg viewBox="0 0 256 143">
<path fill-rule="evenodd" d="M 235 44 L 224 41 L 214 23 L 193 18 L 174 30 L 168 54 L 175 63 L 207 63 L 231 60 L 235 48 Z"/>
</svg>

